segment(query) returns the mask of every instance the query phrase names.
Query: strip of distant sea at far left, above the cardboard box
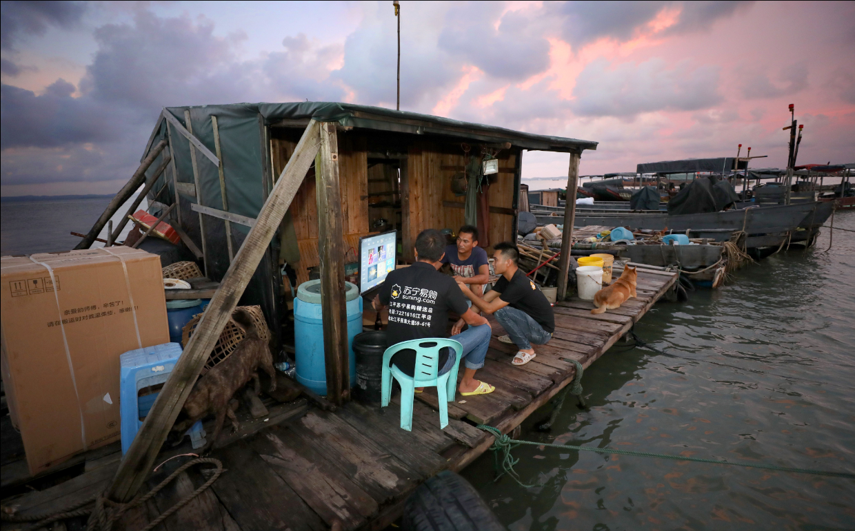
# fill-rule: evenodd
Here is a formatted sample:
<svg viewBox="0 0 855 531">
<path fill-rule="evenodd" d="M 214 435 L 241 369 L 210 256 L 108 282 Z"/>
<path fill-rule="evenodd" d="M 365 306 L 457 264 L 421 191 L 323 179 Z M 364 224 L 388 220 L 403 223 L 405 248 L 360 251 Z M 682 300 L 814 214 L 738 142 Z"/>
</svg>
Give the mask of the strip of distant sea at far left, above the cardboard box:
<svg viewBox="0 0 855 531">
<path fill-rule="evenodd" d="M 63 199 L 58 201 L 23 201 L 3 202 L 0 208 L 0 254 L 33 254 L 68 251 L 80 242 L 78 236 L 70 232 L 86 234 L 95 225 L 104 208 L 109 204 L 109 197 L 90 199 Z M 119 209 L 113 216 L 114 226 L 129 205 Z M 139 208 L 146 207 L 146 200 Z M 119 236 L 123 241 L 131 230 L 130 222 L 125 225 Z M 98 237 L 107 239 L 107 227 Z M 103 243 L 95 242 L 93 248 L 103 247 Z"/>
</svg>

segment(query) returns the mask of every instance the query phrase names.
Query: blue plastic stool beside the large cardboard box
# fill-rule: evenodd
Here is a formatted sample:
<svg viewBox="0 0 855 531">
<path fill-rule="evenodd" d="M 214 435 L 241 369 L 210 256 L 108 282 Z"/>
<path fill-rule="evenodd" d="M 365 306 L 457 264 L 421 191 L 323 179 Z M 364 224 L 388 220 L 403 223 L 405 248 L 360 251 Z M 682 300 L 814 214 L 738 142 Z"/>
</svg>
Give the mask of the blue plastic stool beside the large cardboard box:
<svg viewBox="0 0 855 531">
<path fill-rule="evenodd" d="M 121 354 L 119 384 L 119 411 L 121 412 L 121 454 L 125 455 L 137 436 L 143 421 L 160 392 L 139 396 L 142 388 L 155 386 L 167 381 L 175 362 L 181 355 L 179 343 L 163 343 L 154 347 L 138 348 Z M 202 421 L 193 424 L 186 435 L 190 435 L 193 448 L 205 445 L 205 432 Z"/>
</svg>

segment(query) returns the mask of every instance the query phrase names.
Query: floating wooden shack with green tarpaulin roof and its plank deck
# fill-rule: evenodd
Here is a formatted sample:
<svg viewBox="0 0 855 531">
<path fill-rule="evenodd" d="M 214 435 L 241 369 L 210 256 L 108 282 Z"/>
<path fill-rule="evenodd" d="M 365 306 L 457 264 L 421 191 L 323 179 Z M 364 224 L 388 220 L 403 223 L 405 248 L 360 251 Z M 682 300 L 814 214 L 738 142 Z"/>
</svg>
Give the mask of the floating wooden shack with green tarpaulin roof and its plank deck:
<svg viewBox="0 0 855 531">
<path fill-rule="evenodd" d="M 288 263 L 298 278 L 320 266 L 326 400 L 310 394 L 308 400 L 281 404 L 268 399 L 268 416 L 243 417 L 241 431 L 224 436 L 212 455 L 227 472 L 162 524 L 326 529 L 339 520 L 347 529 L 383 528 L 422 481 L 439 470 L 459 470 L 486 452 L 492 436 L 475 423 L 490 423 L 504 433 L 515 429 L 567 387 L 575 361 L 591 365 L 625 335 L 674 287 L 676 274 L 655 267 L 640 271 L 638 298 L 595 316 L 589 312 L 593 306 L 568 289 L 570 254 L 563 255 L 557 260 L 562 272 L 557 330 L 538 359 L 515 367 L 510 347 L 492 341 L 483 371 L 497 391 L 449 405 L 452 422 L 442 430 L 431 408 L 435 394 L 426 391 L 410 433 L 396 427 L 397 406 L 378 411 L 349 400 L 344 334 L 349 248 L 377 225 L 387 225 L 399 229 L 404 261 L 412 260 L 420 230 L 456 230 L 463 224 L 466 208 L 451 184 L 485 157 L 498 159 L 498 172 L 482 183 L 469 214 L 477 218 L 483 247 L 512 241 L 523 150 L 568 153 L 568 188 L 574 190 L 581 151 L 596 145 L 344 103 L 164 109 L 138 172 L 79 247 L 88 248 L 107 219 L 144 185 L 152 212 L 174 226 L 184 252 L 201 262 L 211 301 L 127 454 L 122 458 L 116 445 L 82 454 L 58 467 L 67 481 L 53 487 L 47 486 L 59 479 L 56 475 L 40 478 L 42 483 L 7 475 L 19 469 L 14 459 L 4 458 L 4 492 L 19 489 L 3 500 L 4 514 L 62 511 L 96 494 L 128 502 L 177 470 L 181 459 L 151 473 L 154 465 L 189 451 L 163 448 L 163 442 L 233 308 L 261 306 L 275 334 L 284 314 L 280 265 Z M 567 213 L 569 227 L 574 206 Z M 568 245 L 571 233 L 564 233 Z M 495 324 L 493 335 L 502 333 Z M 196 469 L 180 471 L 171 487 L 133 506 L 117 524 L 144 527 L 209 477 Z M 36 491 L 20 493 L 32 484 L 39 485 Z M 7 520 L 4 529 L 20 525 Z"/>
</svg>

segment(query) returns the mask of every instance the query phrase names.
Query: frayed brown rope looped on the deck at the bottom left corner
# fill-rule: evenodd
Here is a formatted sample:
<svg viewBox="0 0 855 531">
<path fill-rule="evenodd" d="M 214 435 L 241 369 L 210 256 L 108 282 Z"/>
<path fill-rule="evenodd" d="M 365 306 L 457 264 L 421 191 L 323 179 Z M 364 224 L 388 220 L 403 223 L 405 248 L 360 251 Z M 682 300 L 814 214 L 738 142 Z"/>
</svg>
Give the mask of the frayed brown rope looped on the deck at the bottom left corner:
<svg viewBox="0 0 855 531">
<path fill-rule="evenodd" d="M 29 529 L 38 529 L 38 528 L 47 528 L 51 523 L 58 522 L 60 520 L 65 520 L 67 518 L 74 518 L 76 516 L 89 516 L 89 522 L 86 524 L 87 531 L 109 531 L 109 529 L 113 528 L 113 523 L 121 518 L 127 511 L 133 509 L 137 505 L 143 504 L 158 492 L 163 487 L 166 487 L 170 481 L 173 481 L 176 477 L 178 477 L 182 472 L 192 467 L 195 464 L 214 464 L 216 468 L 208 469 L 213 472 L 212 476 L 208 481 L 205 481 L 201 487 L 198 487 L 192 493 L 187 494 L 184 498 L 180 499 L 178 503 L 170 507 L 167 511 L 164 511 L 161 516 L 157 516 L 154 520 L 152 520 L 147 526 L 142 528 L 140 531 L 150 531 L 150 529 L 156 528 L 160 522 L 163 522 L 168 518 L 168 516 L 172 515 L 175 511 L 178 511 L 181 507 L 187 505 L 190 500 L 196 498 L 199 494 L 203 493 L 203 491 L 210 487 L 214 481 L 223 473 L 222 463 L 219 459 L 215 458 L 196 458 L 192 461 L 187 461 L 185 464 L 182 464 L 180 468 L 175 470 L 172 474 L 170 474 L 166 479 L 157 484 L 156 487 L 152 488 L 148 493 L 140 496 L 139 498 L 133 499 L 127 504 L 119 504 L 107 499 L 103 493 L 99 493 L 96 496 L 85 499 L 84 501 L 78 502 L 74 505 L 70 505 L 68 507 L 63 508 L 61 511 L 50 511 L 50 512 L 42 512 L 38 514 L 32 515 L 17 515 L 15 513 L 10 513 L 6 511 L 6 508 L 3 508 L 3 511 L 0 511 L 0 517 L 2 517 L 3 522 L 36 522 Z M 95 503 L 94 507 L 85 507 L 85 505 L 89 505 L 91 503 Z"/>
</svg>

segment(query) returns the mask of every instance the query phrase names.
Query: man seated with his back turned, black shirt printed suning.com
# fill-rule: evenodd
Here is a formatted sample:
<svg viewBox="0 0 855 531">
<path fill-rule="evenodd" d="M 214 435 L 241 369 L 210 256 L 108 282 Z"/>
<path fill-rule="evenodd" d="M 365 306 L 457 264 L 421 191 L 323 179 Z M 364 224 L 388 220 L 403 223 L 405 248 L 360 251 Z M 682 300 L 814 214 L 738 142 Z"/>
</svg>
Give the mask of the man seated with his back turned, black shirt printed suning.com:
<svg viewBox="0 0 855 531">
<path fill-rule="evenodd" d="M 445 254 L 445 236 L 439 230 L 422 230 L 416 238 L 416 263 L 410 267 L 389 271 L 374 298 L 374 309 L 378 312 L 389 307 L 389 325 L 386 341 L 389 346 L 411 339 L 448 337 L 448 312 L 456 312 L 469 330 L 452 330 L 453 339 L 463 345 L 465 368 L 463 380 L 458 387 L 460 394 L 487 394 L 495 390 L 486 382 L 475 380 L 475 371 L 484 366 L 486 350 L 490 345 L 490 324 L 486 318 L 473 312 L 466 298 L 457 288 L 454 279 L 437 271 Z M 451 371 L 459 360 L 450 349 L 444 348 L 439 355 L 438 375 Z M 392 357 L 392 363 L 405 374 L 413 375 L 416 351 L 402 350 Z"/>
</svg>

